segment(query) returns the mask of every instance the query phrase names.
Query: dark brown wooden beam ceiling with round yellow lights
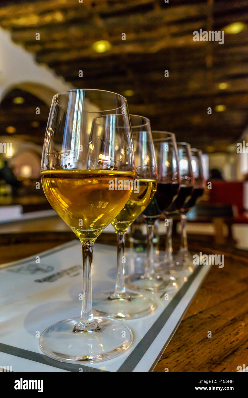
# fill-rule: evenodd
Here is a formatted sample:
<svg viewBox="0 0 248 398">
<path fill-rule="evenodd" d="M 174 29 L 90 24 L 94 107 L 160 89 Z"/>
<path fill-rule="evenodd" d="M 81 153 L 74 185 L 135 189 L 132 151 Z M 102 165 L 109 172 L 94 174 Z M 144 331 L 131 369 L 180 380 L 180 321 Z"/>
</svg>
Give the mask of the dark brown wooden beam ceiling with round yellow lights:
<svg viewBox="0 0 248 398">
<path fill-rule="evenodd" d="M 247 0 L 13 2 L 8 5 L 5 0 L 0 6 L 0 25 L 37 62 L 47 64 L 75 87 L 120 94 L 133 90 L 127 98 L 130 113 L 149 117 L 154 129 L 174 131 L 178 139 L 194 146 L 197 142 L 203 150 L 213 142 L 227 148 L 246 127 Z M 195 30 L 223 30 L 234 22 L 244 23 L 246 29 L 225 33 L 223 45 L 193 41 Z M 111 48 L 97 53 L 92 45 L 98 40 L 109 41 Z M 169 71 L 168 77 L 164 70 Z M 224 90 L 219 86 L 222 82 Z M 219 104 L 226 111 L 215 111 Z M 212 115 L 207 114 L 208 107 Z M 28 116 L 30 107 L 26 112 Z M 13 115 L 25 122 L 17 110 Z M 45 123 L 42 117 L 39 120 Z M 11 116 L 0 111 L 0 121 L 5 127 Z M 23 128 L 19 134 L 25 135 Z"/>
</svg>

